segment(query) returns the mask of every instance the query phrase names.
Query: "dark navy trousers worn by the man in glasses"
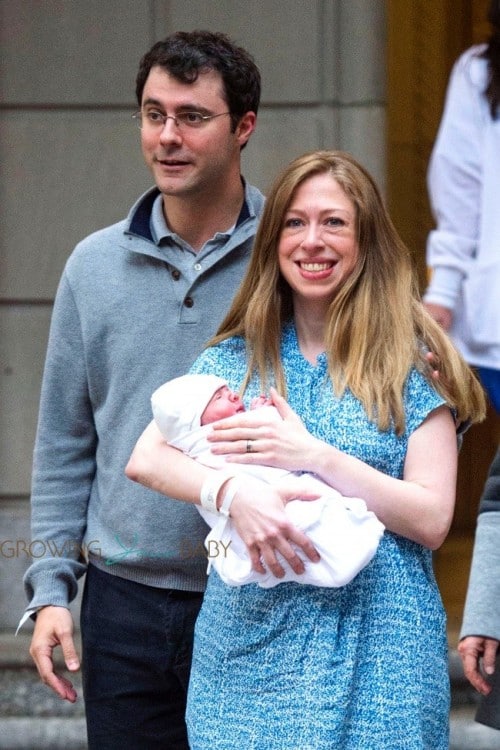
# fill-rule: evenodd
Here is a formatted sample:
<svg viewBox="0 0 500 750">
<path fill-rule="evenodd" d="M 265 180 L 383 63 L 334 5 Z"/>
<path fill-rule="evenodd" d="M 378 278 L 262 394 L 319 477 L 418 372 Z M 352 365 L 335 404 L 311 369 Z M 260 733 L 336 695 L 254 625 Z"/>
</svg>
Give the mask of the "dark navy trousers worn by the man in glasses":
<svg viewBox="0 0 500 750">
<path fill-rule="evenodd" d="M 203 595 L 89 565 L 81 609 L 89 750 L 188 750 L 184 713 Z"/>
</svg>

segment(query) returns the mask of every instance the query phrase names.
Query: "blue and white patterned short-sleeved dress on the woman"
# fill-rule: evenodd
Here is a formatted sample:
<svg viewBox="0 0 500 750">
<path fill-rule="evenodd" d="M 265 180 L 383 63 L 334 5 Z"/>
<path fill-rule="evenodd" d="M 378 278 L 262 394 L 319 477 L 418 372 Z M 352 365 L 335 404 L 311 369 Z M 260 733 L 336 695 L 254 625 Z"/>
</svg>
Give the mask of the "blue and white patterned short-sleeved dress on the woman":
<svg viewBox="0 0 500 750">
<path fill-rule="evenodd" d="M 283 334 L 287 400 L 315 436 L 394 477 L 411 433 L 443 402 L 416 371 L 404 435 L 381 433 L 351 393 L 332 392 Z M 238 389 L 245 345 L 206 350 L 194 372 Z M 252 382 L 245 398 L 258 395 Z M 198 618 L 188 696 L 192 750 L 447 750 L 445 615 L 428 549 L 385 532 L 343 588 L 226 586 L 215 571 Z"/>
</svg>

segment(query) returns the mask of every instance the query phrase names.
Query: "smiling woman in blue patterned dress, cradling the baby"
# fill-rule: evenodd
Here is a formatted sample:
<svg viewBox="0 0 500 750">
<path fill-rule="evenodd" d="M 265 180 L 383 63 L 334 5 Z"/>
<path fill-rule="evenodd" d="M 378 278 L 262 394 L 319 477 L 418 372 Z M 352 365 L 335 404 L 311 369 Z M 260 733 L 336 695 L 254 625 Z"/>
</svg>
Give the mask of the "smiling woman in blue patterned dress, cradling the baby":
<svg viewBox="0 0 500 750">
<path fill-rule="evenodd" d="M 423 344 L 441 363 L 440 393 L 420 372 Z M 243 428 L 236 415 L 215 425 L 228 475 L 231 461 L 311 471 L 363 497 L 386 526 L 343 588 L 232 588 L 210 574 L 189 690 L 193 750 L 447 749 L 431 550 L 453 515 L 454 419 L 481 419 L 484 400 L 418 301 L 409 254 L 351 156 L 306 154 L 275 182 L 245 279 L 192 371 L 243 384 L 245 401 L 268 386 L 282 394 L 273 391 L 279 423 Z M 256 570 L 279 573 L 279 554 L 299 567 L 290 541 L 313 557 L 276 495 L 254 496 L 237 479 L 211 485 L 213 474 L 152 426 L 128 473 L 191 502 L 207 483 L 217 507 L 234 495 L 229 512 Z"/>
</svg>

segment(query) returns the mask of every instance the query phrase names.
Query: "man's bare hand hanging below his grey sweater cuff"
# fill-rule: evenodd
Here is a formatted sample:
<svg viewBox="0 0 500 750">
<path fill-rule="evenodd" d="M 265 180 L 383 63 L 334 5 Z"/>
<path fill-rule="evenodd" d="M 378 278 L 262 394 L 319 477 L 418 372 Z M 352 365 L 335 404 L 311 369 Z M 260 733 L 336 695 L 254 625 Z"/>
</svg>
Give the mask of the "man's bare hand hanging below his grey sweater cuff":
<svg viewBox="0 0 500 750">
<path fill-rule="evenodd" d="M 54 670 L 52 652 L 61 646 L 66 667 L 70 672 L 80 669 L 80 660 L 73 642 L 73 618 L 66 607 L 44 607 L 36 617 L 30 655 L 45 685 L 63 700 L 74 703 L 77 698 L 72 683 Z"/>
</svg>

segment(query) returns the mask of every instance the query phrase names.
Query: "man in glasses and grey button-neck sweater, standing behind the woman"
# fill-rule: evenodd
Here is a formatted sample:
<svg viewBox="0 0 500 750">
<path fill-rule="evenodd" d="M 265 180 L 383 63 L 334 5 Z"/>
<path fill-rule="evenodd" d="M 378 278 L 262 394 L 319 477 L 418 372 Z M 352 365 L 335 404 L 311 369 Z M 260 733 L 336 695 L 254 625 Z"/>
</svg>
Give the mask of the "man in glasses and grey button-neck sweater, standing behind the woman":
<svg viewBox="0 0 500 750">
<path fill-rule="evenodd" d="M 246 267 L 260 192 L 240 175 L 256 124 L 259 71 L 222 34 L 179 32 L 143 57 L 136 94 L 156 187 L 128 217 L 81 242 L 54 306 L 34 452 L 33 538 L 53 556 L 25 576 L 42 680 L 61 646 L 79 668 L 67 609 L 82 602 L 89 748 L 187 748 L 194 620 L 206 578 L 195 508 L 129 481 L 151 393 L 187 371 Z M 88 567 L 84 556 L 88 556 Z M 216 700 L 214 696 L 214 700 Z"/>
</svg>

